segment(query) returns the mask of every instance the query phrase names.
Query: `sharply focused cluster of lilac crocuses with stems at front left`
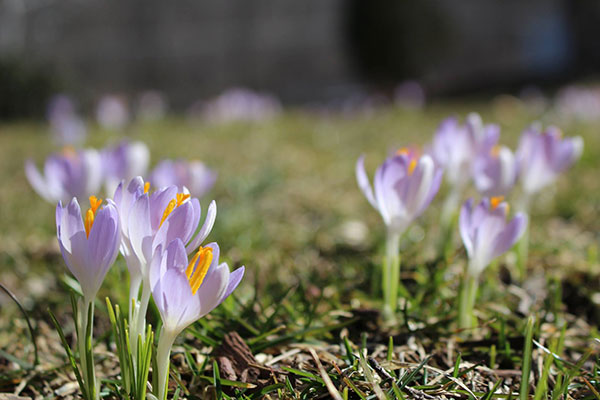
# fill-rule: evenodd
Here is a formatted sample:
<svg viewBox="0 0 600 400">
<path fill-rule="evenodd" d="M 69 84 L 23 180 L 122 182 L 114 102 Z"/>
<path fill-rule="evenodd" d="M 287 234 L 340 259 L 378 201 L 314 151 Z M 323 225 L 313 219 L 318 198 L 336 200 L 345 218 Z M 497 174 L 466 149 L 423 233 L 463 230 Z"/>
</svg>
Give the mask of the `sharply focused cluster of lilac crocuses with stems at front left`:
<svg viewBox="0 0 600 400">
<path fill-rule="evenodd" d="M 66 206 L 59 201 L 56 208 L 60 248 L 83 294 L 83 307 L 79 309 L 85 315 L 77 318 L 77 331 L 86 332 L 91 324 L 87 316 L 93 317 L 93 313 L 85 311 L 93 310 L 98 289 L 120 251 L 131 277 L 129 337 L 133 360 L 142 351 L 138 344 L 144 343 L 145 315 L 151 296 L 162 317 L 155 395 L 164 399 L 175 338 L 233 292 L 244 275 L 244 267 L 230 273 L 227 264 L 219 261 L 219 246 L 202 245 L 215 222 L 216 204 L 210 204 L 200 226 L 200 202 L 185 188 L 181 191 L 173 185 L 152 191 L 148 182 L 135 177 L 127 183 L 122 181 L 113 199 L 104 202 L 91 196 L 89 201 L 90 208 L 85 213 L 76 198 Z M 78 340 L 83 355 L 91 332 L 89 336 L 78 335 Z M 81 364 L 84 371 L 93 371 L 93 356 L 81 356 Z M 97 398 L 94 374 L 84 376 L 86 397 Z"/>
</svg>

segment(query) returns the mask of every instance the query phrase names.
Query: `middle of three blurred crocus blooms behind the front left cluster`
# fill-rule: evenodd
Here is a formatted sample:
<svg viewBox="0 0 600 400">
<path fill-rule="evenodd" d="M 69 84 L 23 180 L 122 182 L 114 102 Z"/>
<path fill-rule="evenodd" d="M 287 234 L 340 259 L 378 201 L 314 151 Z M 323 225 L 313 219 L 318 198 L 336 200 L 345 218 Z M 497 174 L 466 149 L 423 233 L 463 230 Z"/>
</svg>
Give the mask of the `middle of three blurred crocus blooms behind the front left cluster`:
<svg viewBox="0 0 600 400">
<path fill-rule="evenodd" d="M 143 142 L 122 141 L 102 151 L 104 186 L 106 193 L 114 193 L 122 180 L 129 182 L 136 176 L 144 176 L 150 161 L 150 150 Z"/>
</svg>

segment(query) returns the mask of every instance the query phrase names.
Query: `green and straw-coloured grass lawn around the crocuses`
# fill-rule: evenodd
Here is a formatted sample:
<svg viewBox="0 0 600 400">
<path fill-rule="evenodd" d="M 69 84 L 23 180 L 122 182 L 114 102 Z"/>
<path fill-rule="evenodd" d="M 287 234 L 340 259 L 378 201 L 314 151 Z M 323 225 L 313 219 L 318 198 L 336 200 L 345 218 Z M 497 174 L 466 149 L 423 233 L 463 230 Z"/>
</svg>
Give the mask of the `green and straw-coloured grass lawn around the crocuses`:
<svg viewBox="0 0 600 400">
<path fill-rule="evenodd" d="M 455 242 L 448 263 L 435 251 L 444 193 L 406 236 L 402 283 L 409 296 L 400 323 L 380 322 L 384 229 L 356 185 L 356 159 L 367 155 L 371 175 L 390 150 L 424 145 L 442 118 L 471 110 L 500 123 L 501 141 L 513 148 L 532 120 L 559 123 L 516 103 L 472 101 L 424 112 L 290 110 L 262 123 L 190 125 L 173 118 L 132 126 L 127 134 L 149 145 L 153 165 L 197 158 L 218 171 L 216 187 L 202 201 L 218 204 L 209 240 L 219 242 L 231 268 L 246 265 L 247 271 L 234 296 L 176 342 L 170 396 L 600 398 L 599 125 L 560 123 L 567 135 L 584 137 L 584 155 L 536 201 L 527 279 L 515 278 L 513 253 L 484 272 L 477 328 L 460 331 L 455 323 L 462 246 Z M 72 342 L 70 279 L 56 244 L 54 207 L 37 197 L 23 172 L 25 158 L 41 163 L 53 150 L 47 136 L 38 124 L 0 125 L 0 282 L 27 310 L 40 358 L 32 367 L 26 320 L 0 294 L 0 392 L 39 399 L 77 396 L 47 313 L 53 311 Z M 90 145 L 111 140 L 118 137 L 96 129 Z M 118 398 L 118 357 L 100 299 L 126 309 L 127 293 L 119 259 L 96 304 L 96 358 L 108 398 Z M 149 322 L 158 321 L 151 309 Z M 214 357 L 232 331 L 256 358 L 252 373 L 229 376 Z M 522 374 L 530 377 L 528 386 Z"/>
</svg>

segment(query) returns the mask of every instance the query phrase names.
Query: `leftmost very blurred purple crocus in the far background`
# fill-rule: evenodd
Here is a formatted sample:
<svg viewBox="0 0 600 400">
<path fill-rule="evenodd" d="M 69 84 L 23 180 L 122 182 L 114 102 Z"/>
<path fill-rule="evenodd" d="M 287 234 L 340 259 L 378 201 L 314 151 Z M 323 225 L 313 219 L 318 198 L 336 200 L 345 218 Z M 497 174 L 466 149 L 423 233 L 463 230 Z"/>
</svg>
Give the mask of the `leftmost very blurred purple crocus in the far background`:
<svg viewBox="0 0 600 400">
<path fill-rule="evenodd" d="M 87 136 L 83 119 L 77 114 L 73 100 L 65 94 L 55 95 L 48 103 L 46 113 L 50 133 L 60 146 L 79 146 Z"/>
</svg>

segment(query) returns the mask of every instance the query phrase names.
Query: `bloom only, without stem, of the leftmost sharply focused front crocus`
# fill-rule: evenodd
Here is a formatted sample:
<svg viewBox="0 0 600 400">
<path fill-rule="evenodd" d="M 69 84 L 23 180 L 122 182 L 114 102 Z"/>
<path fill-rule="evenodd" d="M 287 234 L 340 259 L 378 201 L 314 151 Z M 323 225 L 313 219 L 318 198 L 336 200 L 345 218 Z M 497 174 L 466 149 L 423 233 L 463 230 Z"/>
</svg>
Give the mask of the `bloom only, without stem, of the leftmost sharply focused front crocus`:
<svg viewBox="0 0 600 400">
<path fill-rule="evenodd" d="M 58 243 L 69 271 L 81 285 L 86 300 L 96 296 L 108 269 L 119 252 L 121 232 L 117 208 L 111 200 L 102 208 L 102 200 L 90 197 L 90 209 L 81 217 L 77 199 L 56 207 Z"/>
</svg>

